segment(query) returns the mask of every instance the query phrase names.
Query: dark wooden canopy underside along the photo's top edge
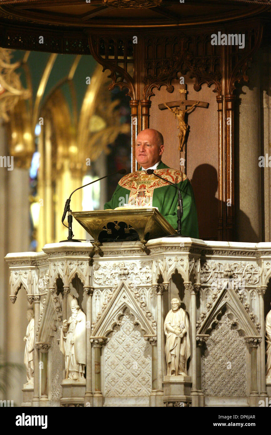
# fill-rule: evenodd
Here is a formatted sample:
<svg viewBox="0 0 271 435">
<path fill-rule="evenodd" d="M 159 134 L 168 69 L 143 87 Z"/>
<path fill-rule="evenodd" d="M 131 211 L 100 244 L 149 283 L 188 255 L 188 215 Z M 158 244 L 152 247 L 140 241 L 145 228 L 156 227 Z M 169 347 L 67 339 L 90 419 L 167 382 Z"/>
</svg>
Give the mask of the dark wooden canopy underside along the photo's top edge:
<svg viewBox="0 0 271 435">
<path fill-rule="evenodd" d="M 217 23 L 271 11 L 271 0 L 0 0 L 0 23 L 146 28 Z"/>
</svg>

